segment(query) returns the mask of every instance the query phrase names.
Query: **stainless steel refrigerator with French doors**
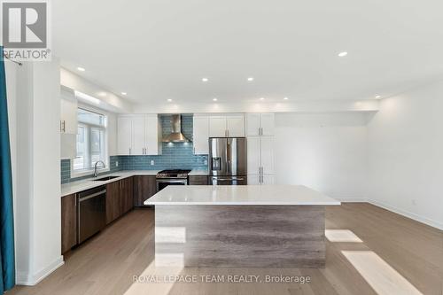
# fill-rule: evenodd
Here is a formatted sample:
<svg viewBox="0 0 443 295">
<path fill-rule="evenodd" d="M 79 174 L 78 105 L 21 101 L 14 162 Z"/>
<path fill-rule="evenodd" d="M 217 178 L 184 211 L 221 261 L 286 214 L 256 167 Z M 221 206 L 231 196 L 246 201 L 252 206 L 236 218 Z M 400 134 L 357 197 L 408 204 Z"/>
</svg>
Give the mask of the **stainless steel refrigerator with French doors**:
<svg viewBox="0 0 443 295">
<path fill-rule="evenodd" d="M 209 138 L 209 181 L 211 184 L 247 184 L 245 137 Z"/>
</svg>

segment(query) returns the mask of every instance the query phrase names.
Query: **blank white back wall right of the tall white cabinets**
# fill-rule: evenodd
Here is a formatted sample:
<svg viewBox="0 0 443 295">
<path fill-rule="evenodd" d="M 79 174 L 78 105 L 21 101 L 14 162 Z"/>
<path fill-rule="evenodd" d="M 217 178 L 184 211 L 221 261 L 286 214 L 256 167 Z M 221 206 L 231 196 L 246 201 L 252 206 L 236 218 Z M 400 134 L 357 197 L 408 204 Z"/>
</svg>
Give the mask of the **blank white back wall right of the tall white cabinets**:
<svg viewBox="0 0 443 295">
<path fill-rule="evenodd" d="M 276 113 L 276 183 L 366 198 L 366 113 Z"/>
</svg>

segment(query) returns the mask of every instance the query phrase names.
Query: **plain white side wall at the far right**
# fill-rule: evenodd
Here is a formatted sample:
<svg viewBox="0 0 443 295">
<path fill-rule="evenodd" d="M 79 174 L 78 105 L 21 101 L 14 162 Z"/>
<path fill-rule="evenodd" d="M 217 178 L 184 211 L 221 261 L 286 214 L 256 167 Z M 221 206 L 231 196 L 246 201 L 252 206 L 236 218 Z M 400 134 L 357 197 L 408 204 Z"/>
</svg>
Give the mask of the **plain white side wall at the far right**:
<svg viewBox="0 0 443 295">
<path fill-rule="evenodd" d="M 369 121 L 369 198 L 443 229 L 443 82 L 383 99 Z"/>
</svg>

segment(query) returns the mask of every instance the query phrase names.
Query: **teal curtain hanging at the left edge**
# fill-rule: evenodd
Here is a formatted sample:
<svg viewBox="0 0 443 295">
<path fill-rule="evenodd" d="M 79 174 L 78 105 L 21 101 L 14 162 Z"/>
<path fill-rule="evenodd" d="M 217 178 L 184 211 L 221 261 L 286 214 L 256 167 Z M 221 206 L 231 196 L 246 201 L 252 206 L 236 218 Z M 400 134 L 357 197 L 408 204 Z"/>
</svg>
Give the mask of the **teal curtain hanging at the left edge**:
<svg viewBox="0 0 443 295">
<path fill-rule="evenodd" d="M 15 284 L 12 167 L 3 46 L 0 46 L 0 291 Z"/>
</svg>

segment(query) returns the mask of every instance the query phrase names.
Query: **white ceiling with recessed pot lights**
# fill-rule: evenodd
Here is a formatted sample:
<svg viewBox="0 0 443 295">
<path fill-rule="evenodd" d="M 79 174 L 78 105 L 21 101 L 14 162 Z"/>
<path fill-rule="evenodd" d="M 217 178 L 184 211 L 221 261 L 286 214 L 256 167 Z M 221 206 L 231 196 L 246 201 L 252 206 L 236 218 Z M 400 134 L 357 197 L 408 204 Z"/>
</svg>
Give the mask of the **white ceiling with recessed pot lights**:
<svg viewBox="0 0 443 295">
<path fill-rule="evenodd" d="M 62 65 L 140 103 L 372 99 L 443 75 L 441 0 L 51 3 Z"/>
</svg>

